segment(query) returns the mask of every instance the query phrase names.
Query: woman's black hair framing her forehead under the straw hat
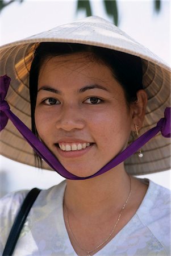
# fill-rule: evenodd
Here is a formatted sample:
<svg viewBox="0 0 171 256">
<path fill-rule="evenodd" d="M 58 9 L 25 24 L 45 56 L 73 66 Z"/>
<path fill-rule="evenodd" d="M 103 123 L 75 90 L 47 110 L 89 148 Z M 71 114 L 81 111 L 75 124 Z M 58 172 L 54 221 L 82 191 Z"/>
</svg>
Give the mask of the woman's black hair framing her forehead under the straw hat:
<svg viewBox="0 0 171 256">
<path fill-rule="evenodd" d="M 37 98 L 37 83 L 39 78 L 39 71 L 41 65 L 48 57 L 55 57 L 61 55 L 72 55 L 73 53 L 87 53 L 87 56 L 93 57 L 97 61 L 101 61 L 110 68 L 114 78 L 119 82 L 124 90 L 127 105 L 136 102 L 136 93 L 143 89 L 143 72 L 141 58 L 106 49 L 97 46 L 88 46 L 77 43 L 40 43 L 35 50 L 34 60 L 30 69 L 30 102 L 31 102 L 31 126 L 33 133 L 39 138 L 35 126 L 35 106 Z M 41 158 L 36 156 L 37 166 L 41 167 Z"/>
</svg>

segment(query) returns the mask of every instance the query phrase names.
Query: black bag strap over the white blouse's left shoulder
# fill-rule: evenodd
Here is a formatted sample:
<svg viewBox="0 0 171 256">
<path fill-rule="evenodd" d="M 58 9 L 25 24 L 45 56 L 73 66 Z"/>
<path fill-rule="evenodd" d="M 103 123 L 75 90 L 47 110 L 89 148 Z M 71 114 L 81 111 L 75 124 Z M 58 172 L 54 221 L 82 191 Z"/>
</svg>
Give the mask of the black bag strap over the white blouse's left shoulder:
<svg viewBox="0 0 171 256">
<path fill-rule="evenodd" d="M 20 232 L 23 228 L 24 222 L 26 221 L 27 215 L 30 212 L 32 205 L 34 204 L 37 196 L 39 195 L 41 189 L 33 188 L 28 192 L 26 198 L 23 201 L 23 204 L 20 207 L 20 210 L 15 218 L 14 224 L 12 225 L 9 237 L 6 242 L 5 249 L 2 256 L 11 256 L 16 242 L 19 238 Z"/>
</svg>

